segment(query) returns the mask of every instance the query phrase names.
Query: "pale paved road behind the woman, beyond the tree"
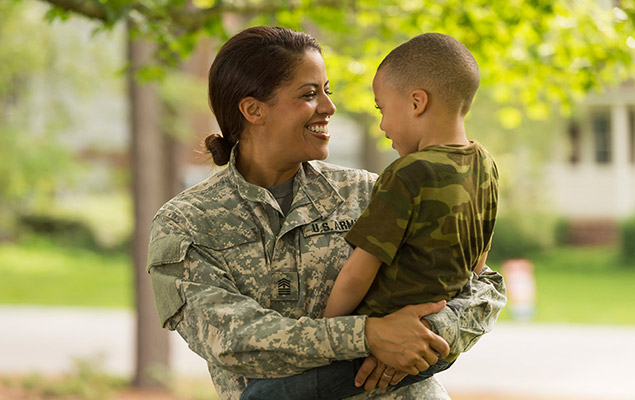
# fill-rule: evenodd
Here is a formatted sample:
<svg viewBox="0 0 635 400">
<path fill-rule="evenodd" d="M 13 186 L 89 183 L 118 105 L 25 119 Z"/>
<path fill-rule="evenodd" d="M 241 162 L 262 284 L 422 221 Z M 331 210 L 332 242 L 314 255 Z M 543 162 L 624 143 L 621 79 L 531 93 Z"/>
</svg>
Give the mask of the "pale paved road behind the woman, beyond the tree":
<svg viewBox="0 0 635 400">
<path fill-rule="evenodd" d="M 0 374 L 60 373 L 101 357 L 129 376 L 133 337 L 127 311 L 0 306 Z M 205 363 L 171 340 L 176 372 L 207 378 Z M 635 400 L 635 327 L 500 323 L 439 379 L 457 397 Z"/>
</svg>

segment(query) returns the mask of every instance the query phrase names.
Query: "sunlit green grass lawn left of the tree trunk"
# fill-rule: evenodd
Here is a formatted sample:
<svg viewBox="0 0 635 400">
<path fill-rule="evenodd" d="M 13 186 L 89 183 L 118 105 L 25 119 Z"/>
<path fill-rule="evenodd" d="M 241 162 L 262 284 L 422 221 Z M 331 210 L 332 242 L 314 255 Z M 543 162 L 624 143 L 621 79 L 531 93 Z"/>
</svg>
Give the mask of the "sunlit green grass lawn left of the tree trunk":
<svg viewBox="0 0 635 400">
<path fill-rule="evenodd" d="M 31 237 L 0 243 L 0 304 L 131 308 L 127 254 L 56 245 Z"/>
</svg>

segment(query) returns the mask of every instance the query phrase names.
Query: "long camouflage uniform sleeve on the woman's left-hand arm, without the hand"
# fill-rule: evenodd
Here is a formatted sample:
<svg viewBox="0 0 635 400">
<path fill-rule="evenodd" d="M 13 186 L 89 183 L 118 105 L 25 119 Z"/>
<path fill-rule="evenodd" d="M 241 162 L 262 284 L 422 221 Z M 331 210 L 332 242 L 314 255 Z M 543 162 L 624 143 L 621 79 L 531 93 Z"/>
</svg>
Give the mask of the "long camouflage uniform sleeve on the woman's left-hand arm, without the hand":
<svg viewBox="0 0 635 400">
<path fill-rule="evenodd" d="M 221 256 L 183 233 L 175 216 L 157 216 L 149 272 L 164 327 L 219 367 L 250 378 L 297 374 L 369 354 L 365 316 L 298 320 L 242 295 Z"/>
</svg>

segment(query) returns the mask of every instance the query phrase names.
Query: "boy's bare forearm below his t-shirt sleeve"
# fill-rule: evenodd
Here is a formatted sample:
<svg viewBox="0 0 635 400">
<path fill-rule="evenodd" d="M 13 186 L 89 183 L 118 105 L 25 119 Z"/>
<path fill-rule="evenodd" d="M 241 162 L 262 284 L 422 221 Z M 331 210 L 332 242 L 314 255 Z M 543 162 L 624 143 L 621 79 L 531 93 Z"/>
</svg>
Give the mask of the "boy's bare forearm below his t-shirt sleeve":
<svg viewBox="0 0 635 400">
<path fill-rule="evenodd" d="M 324 318 L 351 314 L 368 292 L 380 265 L 379 258 L 355 248 L 335 280 Z"/>
</svg>

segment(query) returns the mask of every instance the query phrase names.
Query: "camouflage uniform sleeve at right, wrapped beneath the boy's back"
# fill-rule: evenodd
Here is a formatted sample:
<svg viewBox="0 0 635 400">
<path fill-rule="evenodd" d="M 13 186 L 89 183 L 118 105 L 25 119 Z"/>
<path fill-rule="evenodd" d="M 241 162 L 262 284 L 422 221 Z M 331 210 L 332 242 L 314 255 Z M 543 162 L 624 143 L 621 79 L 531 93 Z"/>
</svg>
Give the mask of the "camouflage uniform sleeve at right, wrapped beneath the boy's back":
<svg viewBox="0 0 635 400">
<path fill-rule="evenodd" d="M 425 319 L 448 342 L 450 353 L 463 353 L 492 330 L 507 302 L 505 293 L 503 277 L 485 266 L 443 310 Z"/>
</svg>

